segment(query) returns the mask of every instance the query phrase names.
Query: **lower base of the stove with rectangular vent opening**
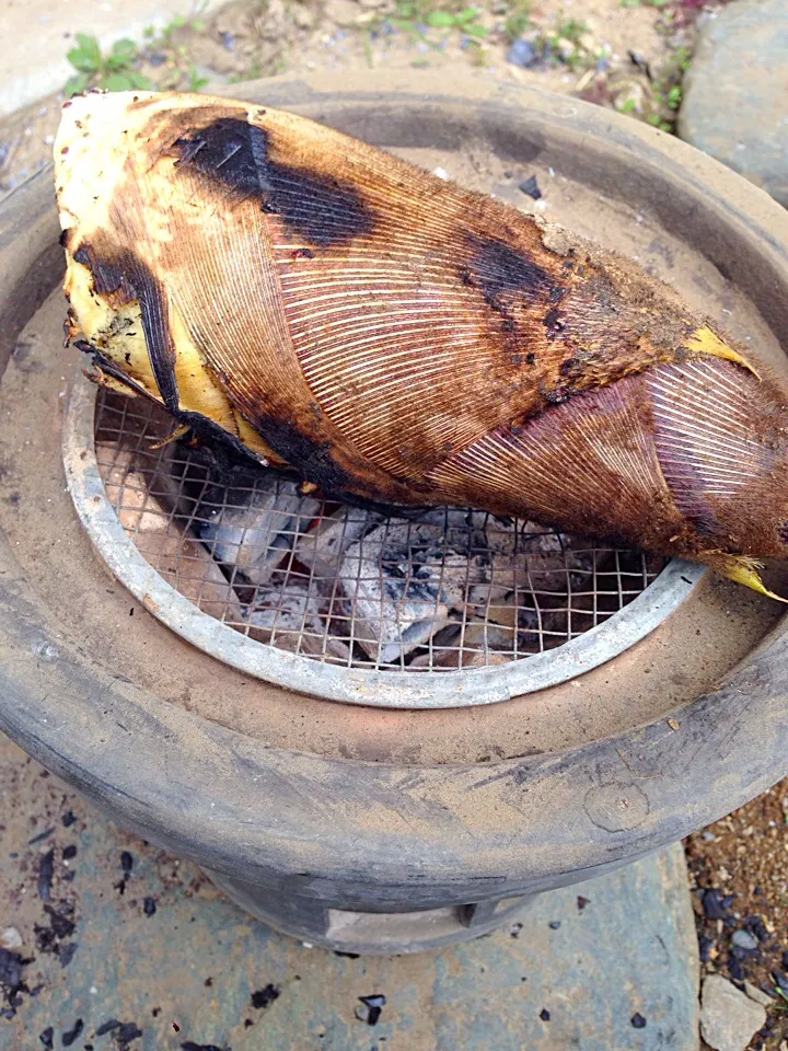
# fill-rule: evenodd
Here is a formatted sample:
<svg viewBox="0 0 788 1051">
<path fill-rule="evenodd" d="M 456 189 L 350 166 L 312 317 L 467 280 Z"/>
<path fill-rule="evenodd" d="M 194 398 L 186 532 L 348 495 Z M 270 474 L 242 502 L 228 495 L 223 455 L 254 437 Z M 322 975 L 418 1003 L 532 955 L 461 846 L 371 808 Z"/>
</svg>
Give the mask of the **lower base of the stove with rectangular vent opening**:
<svg viewBox="0 0 788 1051">
<path fill-rule="evenodd" d="M 205 871 L 231 901 L 266 926 L 306 945 L 359 956 L 398 956 L 471 942 L 515 922 L 537 897 L 525 894 L 417 912 L 355 912 L 333 909 L 303 894 L 275 898 L 269 888 Z"/>
</svg>

